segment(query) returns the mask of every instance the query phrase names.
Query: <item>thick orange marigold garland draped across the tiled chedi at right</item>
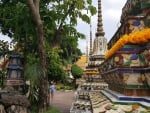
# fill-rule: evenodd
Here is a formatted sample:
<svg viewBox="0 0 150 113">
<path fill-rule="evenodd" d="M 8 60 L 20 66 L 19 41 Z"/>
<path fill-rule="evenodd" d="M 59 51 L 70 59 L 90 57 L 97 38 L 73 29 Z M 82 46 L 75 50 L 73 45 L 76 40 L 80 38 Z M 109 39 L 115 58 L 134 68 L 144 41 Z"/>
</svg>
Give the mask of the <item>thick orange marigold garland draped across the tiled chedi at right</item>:
<svg viewBox="0 0 150 113">
<path fill-rule="evenodd" d="M 122 48 L 125 44 L 142 44 L 150 41 L 150 28 L 146 28 L 141 31 L 130 33 L 129 35 L 123 35 L 115 45 L 107 51 L 105 54 L 105 59 L 110 58 L 116 51 Z"/>
</svg>

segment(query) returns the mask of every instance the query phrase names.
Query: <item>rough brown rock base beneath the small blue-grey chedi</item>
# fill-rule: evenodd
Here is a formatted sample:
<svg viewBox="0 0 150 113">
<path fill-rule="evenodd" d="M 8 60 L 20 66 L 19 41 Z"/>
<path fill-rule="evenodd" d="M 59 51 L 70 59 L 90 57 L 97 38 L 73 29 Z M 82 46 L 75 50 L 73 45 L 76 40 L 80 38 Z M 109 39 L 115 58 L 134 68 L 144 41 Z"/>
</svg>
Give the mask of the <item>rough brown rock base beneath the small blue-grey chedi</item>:
<svg viewBox="0 0 150 113">
<path fill-rule="evenodd" d="M 0 113 L 29 113 L 30 102 L 25 95 L 13 89 L 5 87 L 0 91 Z"/>
</svg>

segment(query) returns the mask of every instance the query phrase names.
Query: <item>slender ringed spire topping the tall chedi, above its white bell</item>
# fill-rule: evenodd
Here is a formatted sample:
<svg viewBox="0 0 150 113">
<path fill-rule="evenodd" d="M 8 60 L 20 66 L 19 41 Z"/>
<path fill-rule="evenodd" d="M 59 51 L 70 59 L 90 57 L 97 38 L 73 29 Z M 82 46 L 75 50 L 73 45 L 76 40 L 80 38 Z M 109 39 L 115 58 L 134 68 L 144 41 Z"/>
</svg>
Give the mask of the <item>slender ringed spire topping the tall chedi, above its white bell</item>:
<svg viewBox="0 0 150 113">
<path fill-rule="evenodd" d="M 101 0 L 98 0 L 98 23 L 96 36 L 104 36 L 103 24 L 102 24 L 102 11 L 101 11 Z"/>
</svg>

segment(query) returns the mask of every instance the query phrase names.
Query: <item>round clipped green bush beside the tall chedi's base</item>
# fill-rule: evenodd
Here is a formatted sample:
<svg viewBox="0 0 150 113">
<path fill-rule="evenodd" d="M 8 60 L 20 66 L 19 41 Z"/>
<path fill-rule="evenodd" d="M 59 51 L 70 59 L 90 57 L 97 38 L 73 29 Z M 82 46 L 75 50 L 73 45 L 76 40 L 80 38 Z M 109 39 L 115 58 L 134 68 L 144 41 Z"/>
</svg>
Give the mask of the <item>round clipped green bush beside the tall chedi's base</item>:
<svg viewBox="0 0 150 113">
<path fill-rule="evenodd" d="M 83 75 L 83 69 L 80 68 L 78 65 L 74 64 L 72 65 L 71 67 L 71 73 L 72 73 L 72 76 L 77 79 L 77 78 L 81 78 L 82 75 Z"/>
</svg>

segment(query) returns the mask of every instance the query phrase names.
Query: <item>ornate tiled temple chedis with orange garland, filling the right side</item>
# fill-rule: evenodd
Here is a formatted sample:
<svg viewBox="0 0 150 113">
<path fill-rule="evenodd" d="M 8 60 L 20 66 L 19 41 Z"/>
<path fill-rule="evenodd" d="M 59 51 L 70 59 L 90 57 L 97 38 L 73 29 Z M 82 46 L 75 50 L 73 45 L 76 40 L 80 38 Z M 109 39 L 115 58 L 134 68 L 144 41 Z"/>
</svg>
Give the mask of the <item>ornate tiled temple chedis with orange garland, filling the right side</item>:
<svg viewBox="0 0 150 113">
<path fill-rule="evenodd" d="M 70 113 L 150 113 L 150 0 L 127 0 L 120 23 L 107 43 L 98 0 L 86 82 L 77 89 Z"/>
</svg>

